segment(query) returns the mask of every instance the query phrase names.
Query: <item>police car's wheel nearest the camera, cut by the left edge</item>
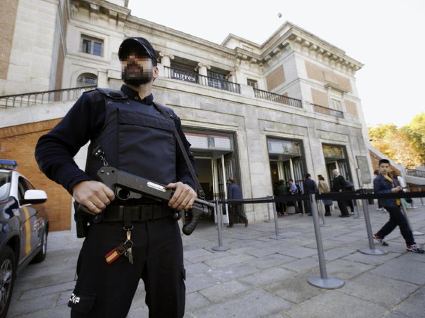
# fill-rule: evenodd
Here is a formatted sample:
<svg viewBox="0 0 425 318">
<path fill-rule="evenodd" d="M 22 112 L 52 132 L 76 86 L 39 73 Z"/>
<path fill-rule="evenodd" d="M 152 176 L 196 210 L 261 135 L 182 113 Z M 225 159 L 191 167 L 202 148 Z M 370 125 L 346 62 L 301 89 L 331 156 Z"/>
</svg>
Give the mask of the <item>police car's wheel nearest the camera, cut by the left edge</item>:
<svg viewBox="0 0 425 318">
<path fill-rule="evenodd" d="M 15 253 L 10 246 L 6 245 L 0 257 L 0 318 L 5 318 L 7 315 L 15 277 Z"/>
</svg>

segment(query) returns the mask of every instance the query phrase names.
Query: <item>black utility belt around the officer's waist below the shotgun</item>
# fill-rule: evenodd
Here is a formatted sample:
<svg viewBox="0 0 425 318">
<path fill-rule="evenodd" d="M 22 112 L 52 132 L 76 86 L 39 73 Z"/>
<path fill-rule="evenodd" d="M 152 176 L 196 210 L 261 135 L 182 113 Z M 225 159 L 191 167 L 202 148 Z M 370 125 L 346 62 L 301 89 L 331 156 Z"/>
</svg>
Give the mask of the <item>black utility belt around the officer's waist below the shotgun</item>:
<svg viewBox="0 0 425 318">
<path fill-rule="evenodd" d="M 145 222 L 171 217 L 174 211 L 163 204 L 108 206 L 102 213 L 91 216 L 93 223 L 103 222 Z"/>
</svg>

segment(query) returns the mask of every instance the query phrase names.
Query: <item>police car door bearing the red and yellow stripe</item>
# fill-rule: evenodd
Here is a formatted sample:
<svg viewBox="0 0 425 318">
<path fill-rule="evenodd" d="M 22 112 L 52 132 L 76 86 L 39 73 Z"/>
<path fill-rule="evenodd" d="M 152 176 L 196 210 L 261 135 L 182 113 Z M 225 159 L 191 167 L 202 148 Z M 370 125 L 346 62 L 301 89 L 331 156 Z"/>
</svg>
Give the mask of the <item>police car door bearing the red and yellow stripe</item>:
<svg viewBox="0 0 425 318">
<path fill-rule="evenodd" d="M 25 191 L 28 190 L 27 183 L 22 176 L 18 178 L 18 200 L 21 215 L 21 249 L 20 262 L 23 262 L 34 250 L 35 241 L 33 229 L 36 221 L 36 210 L 30 204 L 23 204 Z"/>
</svg>

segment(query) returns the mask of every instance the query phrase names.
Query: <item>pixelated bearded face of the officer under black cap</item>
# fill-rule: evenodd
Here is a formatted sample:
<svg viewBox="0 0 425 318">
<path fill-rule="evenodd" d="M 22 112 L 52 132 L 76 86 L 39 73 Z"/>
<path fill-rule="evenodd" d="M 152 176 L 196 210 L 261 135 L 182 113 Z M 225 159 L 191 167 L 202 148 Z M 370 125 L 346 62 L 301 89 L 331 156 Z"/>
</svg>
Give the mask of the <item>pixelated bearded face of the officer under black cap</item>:
<svg viewBox="0 0 425 318">
<path fill-rule="evenodd" d="M 152 60 L 147 53 L 129 52 L 121 61 L 121 65 L 122 80 L 128 85 L 147 84 L 158 73 L 158 68 L 152 66 Z"/>
</svg>

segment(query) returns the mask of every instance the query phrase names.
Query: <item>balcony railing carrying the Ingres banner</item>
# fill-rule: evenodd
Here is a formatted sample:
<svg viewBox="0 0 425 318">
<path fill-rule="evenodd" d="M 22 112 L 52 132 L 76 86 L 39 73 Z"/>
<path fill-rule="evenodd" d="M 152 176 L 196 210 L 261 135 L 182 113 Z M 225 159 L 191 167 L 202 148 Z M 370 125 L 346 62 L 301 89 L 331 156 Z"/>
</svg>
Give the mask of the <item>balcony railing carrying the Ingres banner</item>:
<svg viewBox="0 0 425 318">
<path fill-rule="evenodd" d="M 240 85 L 228 80 L 214 79 L 212 77 L 200 75 L 195 72 L 188 72 L 176 68 L 171 68 L 168 66 L 164 66 L 164 73 L 166 78 L 178 79 L 190 83 L 195 83 L 203 86 L 210 86 L 213 88 L 218 88 L 230 91 L 232 93 L 240 94 Z"/>
</svg>

